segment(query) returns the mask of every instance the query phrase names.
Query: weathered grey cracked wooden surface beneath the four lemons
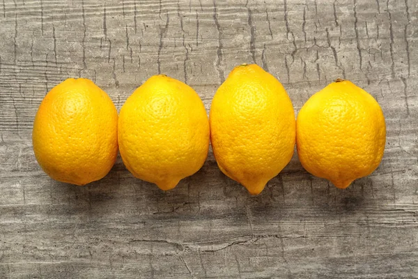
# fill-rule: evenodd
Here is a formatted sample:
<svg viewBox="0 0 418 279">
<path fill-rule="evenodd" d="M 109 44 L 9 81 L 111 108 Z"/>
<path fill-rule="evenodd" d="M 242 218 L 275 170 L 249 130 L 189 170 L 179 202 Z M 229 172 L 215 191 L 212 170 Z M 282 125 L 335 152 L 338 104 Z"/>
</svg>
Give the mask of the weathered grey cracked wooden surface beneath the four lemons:
<svg viewBox="0 0 418 279">
<path fill-rule="evenodd" d="M 418 278 L 418 1 L 3 0 L 0 278 Z M 85 187 L 33 156 L 45 93 L 88 77 L 118 107 L 151 75 L 206 109 L 233 66 L 258 63 L 295 112 L 336 77 L 380 103 L 380 167 L 346 190 L 297 156 L 251 197 L 212 152 L 163 193 L 119 159 Z"/>
</svg>

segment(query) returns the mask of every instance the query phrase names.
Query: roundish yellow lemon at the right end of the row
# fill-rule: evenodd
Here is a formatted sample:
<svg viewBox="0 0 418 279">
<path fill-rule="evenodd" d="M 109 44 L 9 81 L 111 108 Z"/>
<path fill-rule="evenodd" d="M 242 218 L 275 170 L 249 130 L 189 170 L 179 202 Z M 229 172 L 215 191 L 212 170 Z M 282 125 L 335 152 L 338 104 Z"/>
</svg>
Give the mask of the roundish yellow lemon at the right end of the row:
<svg viewBox="0 0 418 279">
<path fill-rule="evenodd" d="M 297 116 L 296 132 L 303 167 L 337 188 L 371 174 L 385 150 L 382 109 L 348 80 L 336 80 L 311 96 Z"/>
</svg>

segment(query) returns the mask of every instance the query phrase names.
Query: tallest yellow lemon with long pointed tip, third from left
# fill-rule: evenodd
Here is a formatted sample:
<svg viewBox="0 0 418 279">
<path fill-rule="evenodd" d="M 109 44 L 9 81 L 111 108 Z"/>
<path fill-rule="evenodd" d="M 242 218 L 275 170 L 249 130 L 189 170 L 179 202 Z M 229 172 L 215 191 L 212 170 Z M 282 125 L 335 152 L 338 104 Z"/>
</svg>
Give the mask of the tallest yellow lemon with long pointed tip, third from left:
<svg viewBox="0 0 418 279">
<path fill-rule="evenodd" d="M 210 140 L 219 169 L 251 195 L 291 160 L 295 113 L 281 83 L 257 65 L 235 67 L 210 108 Z"/>
</svg>

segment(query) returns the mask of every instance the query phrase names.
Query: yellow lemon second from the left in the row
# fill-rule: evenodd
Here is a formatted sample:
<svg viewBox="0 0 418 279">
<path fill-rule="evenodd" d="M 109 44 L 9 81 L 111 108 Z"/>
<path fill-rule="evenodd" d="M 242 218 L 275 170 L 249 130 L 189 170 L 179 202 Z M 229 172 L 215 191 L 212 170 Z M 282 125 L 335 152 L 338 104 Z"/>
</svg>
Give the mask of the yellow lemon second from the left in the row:
<svg viewBox="0 0 418 279">
<path fill-rule="evenodd" d="M 170 190 L 205 163 L 208 116 L 192 87 L 155 75 L 123 105 L 118 141 L 123 163 L 134 176 Z"/>
</svg>

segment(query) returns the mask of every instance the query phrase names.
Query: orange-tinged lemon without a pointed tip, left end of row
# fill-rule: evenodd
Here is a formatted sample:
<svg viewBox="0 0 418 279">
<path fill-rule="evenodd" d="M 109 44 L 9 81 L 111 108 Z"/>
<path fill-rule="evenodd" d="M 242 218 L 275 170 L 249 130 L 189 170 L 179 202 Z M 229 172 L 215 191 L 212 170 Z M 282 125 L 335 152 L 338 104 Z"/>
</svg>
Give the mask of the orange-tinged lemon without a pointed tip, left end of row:
<svg viewBox="0 0 418 279">
<path fill-rule="evenodd" d="M 102 179 L 118 155 L 118 112 L 91 80 L 68 79 L 40 103 L 33 122 L 33 151 L 57 181 L 82 186 Z"/>
</svg>

